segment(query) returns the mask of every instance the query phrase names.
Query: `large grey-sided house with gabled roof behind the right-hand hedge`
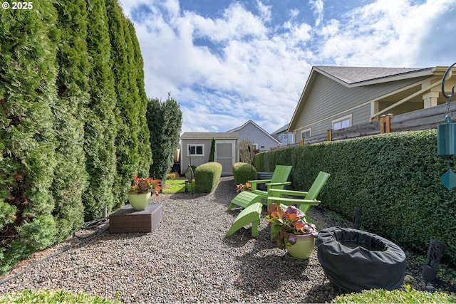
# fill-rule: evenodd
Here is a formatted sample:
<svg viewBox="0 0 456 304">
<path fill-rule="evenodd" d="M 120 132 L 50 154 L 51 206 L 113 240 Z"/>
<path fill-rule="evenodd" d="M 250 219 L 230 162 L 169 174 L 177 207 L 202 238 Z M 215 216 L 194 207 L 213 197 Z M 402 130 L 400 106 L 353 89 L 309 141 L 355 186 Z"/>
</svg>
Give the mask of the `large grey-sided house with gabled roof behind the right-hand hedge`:
<svg viewBox="0 0 456 304">
<path fill-rule="evenodd" d="M 356 68 L 314 66 L 288 128 L 295 142 L 328 130 L 379 120 L 445 103 L 442 78 L 447 67 Z M 456 69 L 452 70 L 455 73 Z M 445 80 L 450 93 L 451 73 Z"/>
</svg>

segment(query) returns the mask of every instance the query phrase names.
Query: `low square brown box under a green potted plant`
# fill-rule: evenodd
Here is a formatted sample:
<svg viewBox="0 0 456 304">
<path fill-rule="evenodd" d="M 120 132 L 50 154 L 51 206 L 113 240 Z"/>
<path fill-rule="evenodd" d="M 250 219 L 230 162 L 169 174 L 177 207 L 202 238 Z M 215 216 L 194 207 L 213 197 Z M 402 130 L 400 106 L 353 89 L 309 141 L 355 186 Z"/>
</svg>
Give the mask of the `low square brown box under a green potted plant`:
<svg viewBox="0 0 456 304">
<path fill-rule="evenodd" d="M 141 211 L 133 210 L 130 204 L 109 216 L 111 234 L 133 234 L 152 232 L 163 219 L 163 205 L 149 204 Z"/>
</svg>

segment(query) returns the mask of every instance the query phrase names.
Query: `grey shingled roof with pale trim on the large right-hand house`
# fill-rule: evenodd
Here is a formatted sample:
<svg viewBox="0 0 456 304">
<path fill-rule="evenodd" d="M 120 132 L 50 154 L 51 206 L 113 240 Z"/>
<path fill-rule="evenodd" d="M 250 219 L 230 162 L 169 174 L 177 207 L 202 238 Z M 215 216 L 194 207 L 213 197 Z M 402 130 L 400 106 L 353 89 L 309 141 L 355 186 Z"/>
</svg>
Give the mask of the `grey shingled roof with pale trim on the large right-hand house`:
<svg viewBox="0 0 456 304">
<path fill-rule="evenodd" d="M 289 124 L 289 130 L 296 127 L 296 121 L 301 115 L 304 104 L 315 84 L 318 75 L 324 75 L 347 88 L 387 83 L 396 80 L 419 78 L 425 76 L 442 76 L 447 67 L 434 68 L 372 68 L 372 67 L 348 67 L 348 66 L 314 66 L 309 78 L 307 78 L 304 90 L 299 98 L 298 105 L 294 110 Z"/>
</svg>

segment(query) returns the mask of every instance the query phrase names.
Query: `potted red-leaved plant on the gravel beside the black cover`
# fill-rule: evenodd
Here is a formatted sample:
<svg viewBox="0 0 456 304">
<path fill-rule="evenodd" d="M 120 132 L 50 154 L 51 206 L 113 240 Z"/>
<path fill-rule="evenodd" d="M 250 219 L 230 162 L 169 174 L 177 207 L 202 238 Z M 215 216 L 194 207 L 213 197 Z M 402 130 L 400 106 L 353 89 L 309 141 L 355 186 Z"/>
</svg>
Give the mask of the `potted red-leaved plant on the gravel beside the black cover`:
<svg viewBox="0 0 456 304">
<path fill-rule="evenodd" d="M 271 226 L 271 236 L 279 248 L 286 248 L 294 258 L 309 258 L 318 236 L 315 225 L 306 222 L 305 216 L 296 206 L 288 206 L 286 210 L 277 204 L 268 206 L 266 219 Z"/>
</svg>

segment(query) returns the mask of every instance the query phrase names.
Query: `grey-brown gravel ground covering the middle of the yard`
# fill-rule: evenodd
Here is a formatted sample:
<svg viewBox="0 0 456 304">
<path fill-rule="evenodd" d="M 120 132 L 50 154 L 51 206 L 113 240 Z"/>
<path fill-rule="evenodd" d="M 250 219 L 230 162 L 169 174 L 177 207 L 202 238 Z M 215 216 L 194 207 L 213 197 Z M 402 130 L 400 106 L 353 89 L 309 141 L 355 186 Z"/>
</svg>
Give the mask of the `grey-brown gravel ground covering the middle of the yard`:
<svg viewBox="0 0 456 304">
<path fill-rule="evenodd" d="M 316 250 L 299 261 L 269 241 L 265 209 L 257 238 L 249 227 L 224 236 L 240 211 L 226 211 L 234 189 L 222 177 L 211 194 L 160 194 L 152 200 L 163 204 L 163 221 L 152 233 L 110 234 L 108 224 L 78 231 L 96 237 L 35 253 L 1 278 L 0 290 L 63 289 L 123 303 L 325 303 L 338 295 Z M 309 216 L 321 229 L 347 224 L 314 207 Z"/>
</svg>

